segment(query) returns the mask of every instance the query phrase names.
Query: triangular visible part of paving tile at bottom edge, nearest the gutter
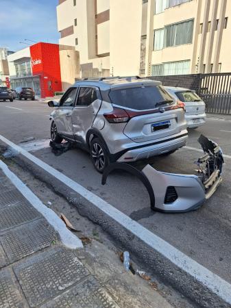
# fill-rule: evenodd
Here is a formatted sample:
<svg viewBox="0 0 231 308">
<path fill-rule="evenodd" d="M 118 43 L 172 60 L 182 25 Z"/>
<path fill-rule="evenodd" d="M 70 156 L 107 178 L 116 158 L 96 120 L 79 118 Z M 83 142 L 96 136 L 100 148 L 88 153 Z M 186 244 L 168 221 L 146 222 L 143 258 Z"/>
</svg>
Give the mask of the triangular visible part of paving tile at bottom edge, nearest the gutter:
<svg viewBox="0 0 231 308">
<path fill-rule="evenodd" d="M 51 307 L 119 308 L 93 276 L 88 277 L 88 279 L 41 306 L 41 308 Z"/>
</svg>

